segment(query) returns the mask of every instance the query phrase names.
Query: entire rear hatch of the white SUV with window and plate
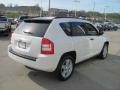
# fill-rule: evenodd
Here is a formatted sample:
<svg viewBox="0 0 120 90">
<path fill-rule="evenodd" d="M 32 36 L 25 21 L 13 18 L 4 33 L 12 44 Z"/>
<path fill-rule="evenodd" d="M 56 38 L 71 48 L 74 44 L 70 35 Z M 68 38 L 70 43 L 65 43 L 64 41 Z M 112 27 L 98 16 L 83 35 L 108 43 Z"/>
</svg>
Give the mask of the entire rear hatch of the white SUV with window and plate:
<svg viewBox="0 0 120 90">
<path fill-rule="evenodd" d="M 37 57 L 41 51 L 41 41 L 51 21 L 25 20 L 12 35 L 12 50 L 23 55 Z"/>
</svg>

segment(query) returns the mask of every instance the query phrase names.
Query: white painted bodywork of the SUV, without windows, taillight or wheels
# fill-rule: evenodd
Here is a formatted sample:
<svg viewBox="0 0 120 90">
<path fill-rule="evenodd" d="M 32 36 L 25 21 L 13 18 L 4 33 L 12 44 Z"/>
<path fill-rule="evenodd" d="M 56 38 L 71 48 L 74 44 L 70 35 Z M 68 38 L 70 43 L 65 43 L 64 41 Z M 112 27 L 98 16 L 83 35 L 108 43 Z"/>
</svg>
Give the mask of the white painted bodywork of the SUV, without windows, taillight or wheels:
<svg viewBox="0 0 120 90">
<path fill-rule="evenodd" d="M 99 54 L 103 48 L 104 43 L 108 41 L 107 38 L 104 37 L 103 35 L 69 37 L 64 33 L 59 23 L 70 21 L 86 22 L 78 19 L 54 19 L 44 36 L 45 38 L 50 39 L 54 43 L 55 46 L 54 55 L 40 54 L 41 50 L 40 43 L 42 38 L 18 35 L 13 33 L 11 39 L 12 43 L 11 45 L 8 46 L 8 49 L 9 47 L 12 47 L 12 49 L 18 53 L 36 57 L 37 59 L 36 61 L 30 61 L 19 56 L 16 56 L 8 51 L 9 57 L 26 66 L 42 71 L 53 72 L 56 70 L 61 56 L 66 52 L 76 51 L 77 56 L 75 63 L 79 63 L 85 59 L 88 59 L 94 55 Z M 93 38 L 94 40 L 93 41 L 90 40 L 91 38 Z M 22 50 L 17 47 L 18 40 L 23 40 L 28 43 L 26 50 Z"/>
</svg>

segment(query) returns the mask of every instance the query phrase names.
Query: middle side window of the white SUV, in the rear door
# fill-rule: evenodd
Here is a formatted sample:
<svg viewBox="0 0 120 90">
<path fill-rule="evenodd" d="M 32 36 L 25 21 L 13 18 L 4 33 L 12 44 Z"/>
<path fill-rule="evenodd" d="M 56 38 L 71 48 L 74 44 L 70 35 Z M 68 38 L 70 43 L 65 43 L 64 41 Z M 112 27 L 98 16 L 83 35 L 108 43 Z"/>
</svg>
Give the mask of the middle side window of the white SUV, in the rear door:
<svg viewBox="0 0 120 90">
<path fill-rule="evenodd" d="M 84 36 L 85 31 L 81 28 L 79 22 L 72 22 L 72 36 Z"/>
</svg>

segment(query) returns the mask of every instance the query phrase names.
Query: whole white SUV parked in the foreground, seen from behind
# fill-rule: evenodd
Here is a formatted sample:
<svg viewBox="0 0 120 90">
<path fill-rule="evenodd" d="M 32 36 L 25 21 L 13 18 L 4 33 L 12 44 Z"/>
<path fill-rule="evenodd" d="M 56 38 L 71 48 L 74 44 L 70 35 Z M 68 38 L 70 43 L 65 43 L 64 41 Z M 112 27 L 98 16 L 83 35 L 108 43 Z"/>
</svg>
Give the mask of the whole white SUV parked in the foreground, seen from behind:
<svg viewBox="0 0 120 90">
<path fill-rule="evenodd" d="M 90 22 L 76 18 L 28 19 L 15 30 L 9 57 L 25 66 L 56 72 L 67 80 L 75 64 L 93 56 L 105 59 L 109 41 Z"/>
</svg>

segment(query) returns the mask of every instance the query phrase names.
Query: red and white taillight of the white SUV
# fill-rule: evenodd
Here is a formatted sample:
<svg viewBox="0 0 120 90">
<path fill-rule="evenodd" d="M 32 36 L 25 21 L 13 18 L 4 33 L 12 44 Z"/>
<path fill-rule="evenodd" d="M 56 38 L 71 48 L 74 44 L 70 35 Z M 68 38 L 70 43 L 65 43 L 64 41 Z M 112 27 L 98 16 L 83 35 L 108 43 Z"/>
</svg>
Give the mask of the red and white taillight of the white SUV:
<svg viewBox="0 0 120 90">
<path fill-rule="evenodd" d="M 42 39 L 41 54 L 54 54 L 54 43 L 51 40 L 47 38 Z"/>
</svg>

